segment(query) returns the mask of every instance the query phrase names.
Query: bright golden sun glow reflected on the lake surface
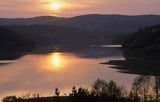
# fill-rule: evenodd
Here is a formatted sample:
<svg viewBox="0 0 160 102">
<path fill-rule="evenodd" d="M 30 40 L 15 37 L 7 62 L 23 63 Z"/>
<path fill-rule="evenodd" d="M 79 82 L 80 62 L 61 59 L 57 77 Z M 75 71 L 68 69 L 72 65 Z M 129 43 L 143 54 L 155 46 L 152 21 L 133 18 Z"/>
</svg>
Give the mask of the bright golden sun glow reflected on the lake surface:
<svg viewBox="0 0 160 102">
<path fill-rule="evenodd" d="M 69 66 L 71 67 L 73 64 L 79 63 L 77 58 L 70 53 L 53 52 L 44 56 L 45 57 L 37 63 L 37 66 L 48 71 L 62 72 L 69 68 Z"/>
</svg>

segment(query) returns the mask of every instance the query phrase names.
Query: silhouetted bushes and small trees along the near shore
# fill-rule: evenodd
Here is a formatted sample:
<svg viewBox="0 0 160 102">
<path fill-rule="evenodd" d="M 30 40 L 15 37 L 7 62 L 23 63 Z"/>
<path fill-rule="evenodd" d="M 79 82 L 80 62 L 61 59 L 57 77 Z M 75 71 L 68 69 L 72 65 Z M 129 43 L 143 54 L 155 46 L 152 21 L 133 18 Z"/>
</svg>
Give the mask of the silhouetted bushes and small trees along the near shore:
<svg viewBox="0 0 160 102">
<path fill-rule="evenodd" d="M 42 97 L 40 94 L 26 94 L 22 97 L 7 96 L 3 102 L 159 102 L 160 76 L 139 76 L 133 80 L 130 89 L 118 86 L 114 81 L 97 79 L 91 89 L 72 88 L 68 96 L 60 96 L 55 88 L 52 97 Z"/>
</svg>

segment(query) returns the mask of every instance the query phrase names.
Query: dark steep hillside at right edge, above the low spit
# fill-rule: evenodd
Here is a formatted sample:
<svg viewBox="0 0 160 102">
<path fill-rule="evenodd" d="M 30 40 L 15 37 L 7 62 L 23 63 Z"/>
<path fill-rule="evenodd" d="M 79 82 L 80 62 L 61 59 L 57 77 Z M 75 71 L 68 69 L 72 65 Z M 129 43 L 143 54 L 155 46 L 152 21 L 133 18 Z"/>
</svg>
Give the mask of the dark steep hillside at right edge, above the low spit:
<svg viewBox="0 0 160 102">
<path fill-rule="evenodd" d="M 160 61 L 160 25 L 140 29 L 123 42 L 125 57 Z"/>
</svg>

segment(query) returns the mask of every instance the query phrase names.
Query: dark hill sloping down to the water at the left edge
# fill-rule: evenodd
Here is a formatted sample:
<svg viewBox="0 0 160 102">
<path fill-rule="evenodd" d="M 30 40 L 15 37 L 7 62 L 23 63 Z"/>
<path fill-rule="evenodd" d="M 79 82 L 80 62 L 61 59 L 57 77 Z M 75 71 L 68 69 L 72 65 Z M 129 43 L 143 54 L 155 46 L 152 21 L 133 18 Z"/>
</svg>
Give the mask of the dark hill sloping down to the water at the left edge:
<svg viewBox="0 0 160 102">
<path fill-rule="evenodd" d="M 15 59 L 33 51 L 29 38 L 10 29 L 0 27 L 0 60 Z"/>
</svg>

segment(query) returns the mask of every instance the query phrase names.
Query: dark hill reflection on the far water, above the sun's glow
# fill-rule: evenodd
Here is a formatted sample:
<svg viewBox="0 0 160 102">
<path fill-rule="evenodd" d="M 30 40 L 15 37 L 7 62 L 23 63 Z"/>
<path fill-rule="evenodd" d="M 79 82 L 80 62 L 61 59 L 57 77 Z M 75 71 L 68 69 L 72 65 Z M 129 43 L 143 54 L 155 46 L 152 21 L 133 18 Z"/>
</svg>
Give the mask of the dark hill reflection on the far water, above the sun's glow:
<svg viewBox="0 0 160 102">
<path fill-rule="evenodd" d="M 48 47 L 41 47 L 37 49 L 34 54 L 52 53 L 55 49 L 57 52 L 72 53 L 83 58 L 104 58 L 122 55 L 122 51 L 115 50 L 115 48 L 106 48 L 99 44 L 97 44 L 97 46 L 93 46 L 89 43 L 76 43 L 73 41 L 57 43 L 56 45 Z"/>
</svg>

